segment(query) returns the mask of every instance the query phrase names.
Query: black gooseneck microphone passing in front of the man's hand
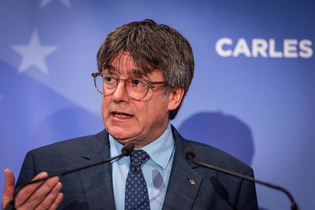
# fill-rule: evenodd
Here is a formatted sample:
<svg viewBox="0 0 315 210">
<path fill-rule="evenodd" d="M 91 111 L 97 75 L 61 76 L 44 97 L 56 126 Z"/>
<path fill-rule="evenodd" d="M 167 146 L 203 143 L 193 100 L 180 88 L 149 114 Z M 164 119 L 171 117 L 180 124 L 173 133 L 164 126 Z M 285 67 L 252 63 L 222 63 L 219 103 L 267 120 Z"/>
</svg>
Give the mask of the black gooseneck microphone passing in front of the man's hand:
<svg viewBox="0 0 315 210">
<path fill-rule="evenodd" d="M 60 172 L 58 174 L 54 174 L 54 175 L 51 175 L 51 176 L 48 176 L 46 178 L 42 178 L 42 179 L 38 179 L 38 180 L 33 180 L 31 182 L 28 182 L 26 184 L 23 184 L 19 187 L 17 187 L 14 191 L 14 195 L 13 195 L 13 198 L 9 201 L 9 203 L 7 204 L 7 206 L 5 207 L 5 210 L 15 210 L 15 207 L 14 207 L 14 204 L 15 204 L 15 201 L 14 201 L 14 198 L 15 196 L 17 195 L 17 193 L 25 186 L 29 185 L 29 184 L 33 184 L 33 183 L 36 183 L 36 182 L 39 182 L 39 181 L 44 181 L 44 180 L 48 180 L 49 178 L 52 178 L 52 177 L 61 177 L 63 175 L 66 175 L 66 174 L 70 174 L 70 173 L 73 173 L 73 172 L 76 172 L 76 171 L 80 171 L 80 170 L 83 170 L 83 169 L 87 169 L 87 168 L 90 168 L 92 166 L 97 166 L 99 164 L 102 164 L 102 163 L 106 163 L 106 162 L 109 162 L 109 161 L 112 161 L 114 159 L 117 159 L 117 158 L 120 158 L 122 156 L 129 156 L 132 152 L 132 150 L 134 149 L 134 144 L 133 143 L 127 143 L 123 148 L 122 148 L 122 153 L 115 156 L 115 157 L 110 157 L 110 158 L 106 158 L 106 159 L 103 159 L 103 160 L 100 160 L 100 161 L 97 161 L 95 163 L 91 163 L 91 164 L 88 164 L 88 165 L 85 165 L 85 166 L 80 166 L 78 168 L 75 168 L 75 169 L 71 169 L 71 170 L 68 170 L 68 171 L 63 171 L 63 172 Z"/>
</svg>

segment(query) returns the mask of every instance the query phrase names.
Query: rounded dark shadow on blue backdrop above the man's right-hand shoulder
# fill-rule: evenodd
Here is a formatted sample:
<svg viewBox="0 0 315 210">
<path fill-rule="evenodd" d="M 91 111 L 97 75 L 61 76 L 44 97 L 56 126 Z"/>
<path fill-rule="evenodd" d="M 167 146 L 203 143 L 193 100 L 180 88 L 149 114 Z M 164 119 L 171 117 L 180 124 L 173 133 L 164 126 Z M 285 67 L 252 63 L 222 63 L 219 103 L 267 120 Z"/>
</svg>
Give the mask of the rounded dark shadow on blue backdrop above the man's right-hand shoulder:
<svg viewBox="0 0 315 210">
<path fill-rule="evenodd" d="M 252 132 L 248 125 L 221 112 L 200 112 L 179 127 L 186 139 L 223 150 L 251 165 L 254 154 Z"/>
</svg>

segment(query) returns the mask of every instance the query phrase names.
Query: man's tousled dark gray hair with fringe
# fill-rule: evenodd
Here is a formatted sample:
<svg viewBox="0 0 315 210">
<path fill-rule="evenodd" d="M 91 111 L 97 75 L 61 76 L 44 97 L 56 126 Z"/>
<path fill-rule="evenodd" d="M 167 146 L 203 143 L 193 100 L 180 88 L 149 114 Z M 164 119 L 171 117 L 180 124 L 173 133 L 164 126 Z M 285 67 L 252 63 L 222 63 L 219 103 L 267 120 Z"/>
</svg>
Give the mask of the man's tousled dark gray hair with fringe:
<svg viewBox="0 0 315 210">
<path fill-rule="evenodd" d="M 163 95 L 184 87 L 184 99 L 192 81 L 194 60 L 189 41 L 182 34 L 149 19 L 120 26 L 107 35 L 98 49 L 98 71 L 102 72 L 112 58 L 124 51 L 129 52 L 144 75 L 154 70 L 162 73 L 167 82 Z M 182 102 L 169 112 L 170 120 L 176 117 Z"/>
</svg>

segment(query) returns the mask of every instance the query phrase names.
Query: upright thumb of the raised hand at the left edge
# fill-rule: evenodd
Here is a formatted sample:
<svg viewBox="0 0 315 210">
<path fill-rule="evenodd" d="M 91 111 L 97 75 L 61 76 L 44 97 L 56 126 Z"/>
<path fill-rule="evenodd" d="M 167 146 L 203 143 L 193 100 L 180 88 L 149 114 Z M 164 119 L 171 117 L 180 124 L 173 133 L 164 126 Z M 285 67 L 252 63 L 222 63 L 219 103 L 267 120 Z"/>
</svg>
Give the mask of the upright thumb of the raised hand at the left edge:
<svg viewBox="0 0 315 210">
<path fill-rule="evenodd" d="M 2 195 L 2 209 L 4 209 L 7 203 L 11 200 L 14 195 L 14 175 L 10 169 L 4 170 L 5 180 Z"/>
</svg>

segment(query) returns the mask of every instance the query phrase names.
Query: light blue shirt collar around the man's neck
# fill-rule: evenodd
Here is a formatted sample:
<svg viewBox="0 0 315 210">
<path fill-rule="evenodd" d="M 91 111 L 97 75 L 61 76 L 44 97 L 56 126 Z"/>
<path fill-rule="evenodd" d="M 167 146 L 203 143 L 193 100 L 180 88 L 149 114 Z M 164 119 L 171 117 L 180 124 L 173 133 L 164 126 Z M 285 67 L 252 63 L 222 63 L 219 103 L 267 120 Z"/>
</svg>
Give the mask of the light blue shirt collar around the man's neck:
<svg viewBox="0 0 315 210">
<path fill-rule="evenodd" d="M 109 135 L 110 154 L 111 157 L 119 155 L 124 145 L 116 141 L 111 135 Z M 157 140 L 144 146 L 141 150 L 145 150 L 150 155 L 150 160 L 153 160 L 161 168 L 166 169 L 169 160 L 171 159 L 173 150 L 175 147 L 175 141 L 172 133 L 171 123 L 168 125 L 164 133 L 158 137 Z M 112 162 L 118 159 L 112 160 Z"/>
</svg>

